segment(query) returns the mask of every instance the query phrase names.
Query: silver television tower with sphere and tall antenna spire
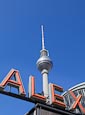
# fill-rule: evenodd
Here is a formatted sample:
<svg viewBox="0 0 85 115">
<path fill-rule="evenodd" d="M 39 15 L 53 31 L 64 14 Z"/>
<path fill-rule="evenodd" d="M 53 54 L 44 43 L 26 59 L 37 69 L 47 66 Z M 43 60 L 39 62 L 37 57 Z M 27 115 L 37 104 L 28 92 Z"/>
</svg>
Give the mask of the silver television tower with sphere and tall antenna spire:
<svg viewBox="0 0 85 115">
<path fill-rule="evenodd" d="M 48 86 L 48 73 L 51 70 L 53 63 L 49 58 L 49 52 L 45 49 L 45 40 L 44 40 L 44 29 L 41 25 L 42 31 L 42 50 L 40 51 L 40 58 L 37 61 L 37 68 L 41 72 L 43 77 L 43 94 L 48 98 L 49 86 Z"/>
</svg>

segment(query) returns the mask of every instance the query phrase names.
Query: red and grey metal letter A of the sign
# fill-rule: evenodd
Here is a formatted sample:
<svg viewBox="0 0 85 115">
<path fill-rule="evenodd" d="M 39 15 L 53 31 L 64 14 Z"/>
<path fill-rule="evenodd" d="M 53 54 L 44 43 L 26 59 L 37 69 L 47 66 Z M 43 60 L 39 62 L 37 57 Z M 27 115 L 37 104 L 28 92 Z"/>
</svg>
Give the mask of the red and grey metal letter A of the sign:
<svg viewBox="0 0 85 115">
<path fill-rule="evenodd" d="M 11 79 L 13 76 L 15 77 L 15 80 Z M 25 96 L 26 93 L 18 70 L 11 69 L 5 79 L 0 83 L 0 88 L 4 89 L 6 85 L 18 88 L 19 93 Z"/>
</svg>

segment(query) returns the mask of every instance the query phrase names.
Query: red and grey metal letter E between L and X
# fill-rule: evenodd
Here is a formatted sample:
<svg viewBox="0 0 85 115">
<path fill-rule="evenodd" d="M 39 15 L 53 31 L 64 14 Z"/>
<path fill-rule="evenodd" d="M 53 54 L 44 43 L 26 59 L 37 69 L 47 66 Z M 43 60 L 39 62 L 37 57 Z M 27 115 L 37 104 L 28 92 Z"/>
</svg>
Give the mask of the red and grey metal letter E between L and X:
<svg viewBox="0 0 85 115">
<path fill-rule="evenodd" d="M 50 104 L 65 108 L 66 105 L 64 103 L 63 96 L 59 94 L 55 94 L 55 90 L 59 92 L 63 92 L 63 88 L 57 86 L 55 84 L 49 84 L 49 96 L 50 96 Z"/>
</svg>

